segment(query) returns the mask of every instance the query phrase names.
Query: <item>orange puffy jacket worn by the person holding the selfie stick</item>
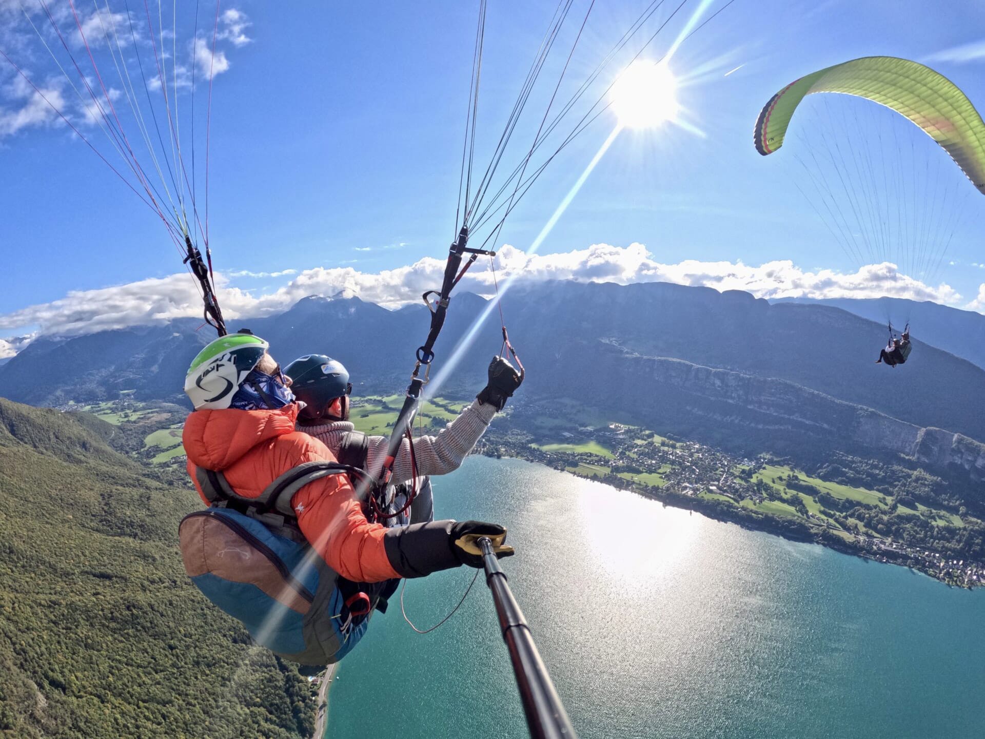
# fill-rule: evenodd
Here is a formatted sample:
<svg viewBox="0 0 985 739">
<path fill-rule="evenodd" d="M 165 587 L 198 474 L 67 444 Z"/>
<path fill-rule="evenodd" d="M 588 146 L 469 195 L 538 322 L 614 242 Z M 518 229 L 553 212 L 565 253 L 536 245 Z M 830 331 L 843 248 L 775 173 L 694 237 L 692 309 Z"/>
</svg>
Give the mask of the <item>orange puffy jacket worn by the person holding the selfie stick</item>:
<svg viewBox="0 0 985 739">
<path fill-rule="evenodd" d="M 295 431 L 296 417 L 296 403 L 274 411 L 192 412 L 181 437 L 192 481 L 195 467 L 215 470 L 239 495 L 257 498 L 298 464 L 336 461 L 321 441 Z M 195 487 L 208 503 L 197 482 Z M 305 485 L 291 503 L 301 533 L 332 570 L 354 582 L 401 576 L 384 550 L 386 527 L 366 520 L 345 475 L 328 475 Z"/>
</svg>

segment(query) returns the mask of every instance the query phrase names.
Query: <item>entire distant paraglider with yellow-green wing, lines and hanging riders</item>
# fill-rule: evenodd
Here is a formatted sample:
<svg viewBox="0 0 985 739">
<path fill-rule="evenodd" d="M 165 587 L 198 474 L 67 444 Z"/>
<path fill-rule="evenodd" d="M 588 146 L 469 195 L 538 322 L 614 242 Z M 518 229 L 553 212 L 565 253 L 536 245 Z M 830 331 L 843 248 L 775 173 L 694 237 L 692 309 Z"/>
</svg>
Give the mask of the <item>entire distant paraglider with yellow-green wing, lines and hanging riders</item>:
<svg viewBox="0 0 985 739">
<path fill-rule="evenodd" d="M 802 108 L 814 93 L 840 93 L 885 107 L 831 103 L 822 96 Z M 923 64 L 863 57 L 801 77 L 770 98 L 755 121 L 756 151 L 768 156 L 780 149 L 794 113 L 804 108 L 793 156 L 806 177 L 796 177 L 795 186 L 860 268 L 891 262 L 930 285 L 966 211 L 962 196 L 970 193 L 940 149 L 985 194 L 985 123 L 975 106 Z M 940 149 L 897 123 L 895 113 Z M 907 316 L 897 336 L 891 318 L 886 314 L 889 342 L 879 362 L 895 367 L 910 354 L 909 323 Z"/>
</svg>

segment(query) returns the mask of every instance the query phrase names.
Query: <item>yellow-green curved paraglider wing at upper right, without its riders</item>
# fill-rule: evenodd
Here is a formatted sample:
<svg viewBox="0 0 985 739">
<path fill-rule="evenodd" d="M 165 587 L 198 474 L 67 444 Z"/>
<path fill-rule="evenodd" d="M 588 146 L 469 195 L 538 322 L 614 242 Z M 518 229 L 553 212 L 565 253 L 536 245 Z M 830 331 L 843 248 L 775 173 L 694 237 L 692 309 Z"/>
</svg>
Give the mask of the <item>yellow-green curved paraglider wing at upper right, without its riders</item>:
<svg viewBox="0 0 985 739">
<path fill-rule="evenodd" d="M 905 115 L 940 144 L 985 194 L 985 123 L 957 87 L 930 67 L 891 56 L 866 56 L 801 77 L 774 95 L 755 121 L 755 149 L 783 146 L 797 106 L 812 93 L 842 93 Z"/>
</svg>

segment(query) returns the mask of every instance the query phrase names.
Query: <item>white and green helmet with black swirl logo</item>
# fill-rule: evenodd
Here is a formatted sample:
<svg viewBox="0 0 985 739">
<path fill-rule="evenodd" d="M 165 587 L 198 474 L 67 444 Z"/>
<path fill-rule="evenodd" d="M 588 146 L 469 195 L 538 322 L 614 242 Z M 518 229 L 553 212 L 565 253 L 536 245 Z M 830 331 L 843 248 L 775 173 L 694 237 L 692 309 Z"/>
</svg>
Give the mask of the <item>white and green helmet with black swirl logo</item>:
<svg viewBox="0 0 985 739">
<path fill-rule="evenodd" d="M 229 408 L 246 375 L 270 345 L 252 334 L 220 336 L 192 360 L 185 375 L 185 394 L 196 411 Z"/>
</svg>

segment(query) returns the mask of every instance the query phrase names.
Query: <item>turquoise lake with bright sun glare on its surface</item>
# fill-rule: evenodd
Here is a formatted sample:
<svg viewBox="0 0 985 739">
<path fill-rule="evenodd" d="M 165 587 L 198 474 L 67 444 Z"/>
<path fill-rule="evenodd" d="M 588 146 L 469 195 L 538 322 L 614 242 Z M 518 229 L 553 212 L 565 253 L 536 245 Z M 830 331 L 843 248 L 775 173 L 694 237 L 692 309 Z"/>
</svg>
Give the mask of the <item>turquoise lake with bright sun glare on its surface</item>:
<svg viewBox="0 0 985 739">
<path fill-rule="evenodd" d="M 985 591 L 719 523 L 515 459 L 435 480 L 503 561 L 581 737 L 985 737 Z M 474 571 L 407 585 L 418 628 Z M 493 599 L 421 636 L 399 593 L 346 657 L 330 737 L 526 737 Z"/>
</svg>

